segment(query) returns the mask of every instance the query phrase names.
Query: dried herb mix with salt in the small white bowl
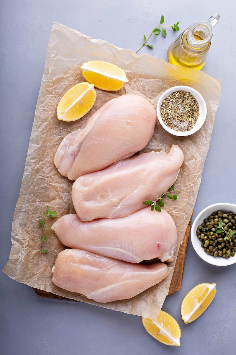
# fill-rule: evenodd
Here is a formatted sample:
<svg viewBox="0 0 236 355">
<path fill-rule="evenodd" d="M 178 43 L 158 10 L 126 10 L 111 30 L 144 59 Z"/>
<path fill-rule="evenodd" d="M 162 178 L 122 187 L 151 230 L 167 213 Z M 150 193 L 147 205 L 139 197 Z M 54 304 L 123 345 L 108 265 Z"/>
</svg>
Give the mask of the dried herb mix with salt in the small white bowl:
<svg viewBox="0 0 236 355">
<path fill-rule="evenodd" d="M 190 92 L 175 91 L 167 96 L 160 108 L 163 122 L 175 131 L 190 131 L 197 122 L 199 106 Z"/>
</svg>

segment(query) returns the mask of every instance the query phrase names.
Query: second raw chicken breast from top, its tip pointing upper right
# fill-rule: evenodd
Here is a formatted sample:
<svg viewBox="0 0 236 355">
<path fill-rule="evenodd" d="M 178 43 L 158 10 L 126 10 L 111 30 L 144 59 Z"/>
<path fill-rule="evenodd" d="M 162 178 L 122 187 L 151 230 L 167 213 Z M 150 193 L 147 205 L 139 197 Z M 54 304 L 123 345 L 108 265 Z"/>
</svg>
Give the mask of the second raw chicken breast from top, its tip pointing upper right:
<svg viewBox="0 0 236 355">
<path fill-rule="evenodd" d="M 80 176 L 72 186 L 75 211 L 82 221 L 132 214 L 173 185 L 183 160 L 182 150 L 173 145 L 168 154 L 143 153 Z"/>
</svg>

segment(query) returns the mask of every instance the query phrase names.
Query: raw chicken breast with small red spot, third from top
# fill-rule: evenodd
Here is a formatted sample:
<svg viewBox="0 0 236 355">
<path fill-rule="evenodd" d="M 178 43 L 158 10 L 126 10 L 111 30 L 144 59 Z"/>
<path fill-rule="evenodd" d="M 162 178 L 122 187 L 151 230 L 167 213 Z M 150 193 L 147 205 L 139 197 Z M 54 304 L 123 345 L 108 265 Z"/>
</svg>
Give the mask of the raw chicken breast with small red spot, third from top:
<svg viewBox="0 0 236 355">
<path fill-rule="evenodd" d="M 144 208 L 128 217 L 81 222 L 77 214 L 67 214 L 52 226 L 62 244 L 111 258 L 139 263 L 159 258 L 173 260 L 177 229 L 162 209 Z"/>
</svg>

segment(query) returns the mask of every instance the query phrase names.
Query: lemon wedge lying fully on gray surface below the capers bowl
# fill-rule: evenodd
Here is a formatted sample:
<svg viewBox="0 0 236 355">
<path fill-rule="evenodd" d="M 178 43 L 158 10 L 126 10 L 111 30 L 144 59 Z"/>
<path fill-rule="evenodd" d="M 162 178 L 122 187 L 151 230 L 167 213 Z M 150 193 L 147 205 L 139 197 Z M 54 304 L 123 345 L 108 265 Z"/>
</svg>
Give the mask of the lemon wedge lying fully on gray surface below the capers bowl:
<svg viewBox="0 0 236 355">
<path fill-rule="evenodd" d="M 216 284 L 199 284 L 184 297 L 180 311 L 184 323 L 195 321 L 211 304 L 216 294 Z"/>
</svg>

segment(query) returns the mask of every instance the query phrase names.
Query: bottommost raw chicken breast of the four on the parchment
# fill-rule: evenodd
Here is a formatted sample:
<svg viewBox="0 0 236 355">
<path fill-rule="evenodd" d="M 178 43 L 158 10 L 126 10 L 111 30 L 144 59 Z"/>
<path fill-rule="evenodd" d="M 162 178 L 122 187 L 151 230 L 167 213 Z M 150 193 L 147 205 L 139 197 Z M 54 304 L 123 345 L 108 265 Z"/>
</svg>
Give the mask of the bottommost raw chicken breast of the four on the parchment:
<svg viewBox="0 0 236 355">
<path fill-rule="evenodd" d="M 156 285 L 168 274 L 166 264 L 131 264 L 80 249 L 59 253 L 52 282 L 96 302 L 124 300 Z"/>
</svg>

